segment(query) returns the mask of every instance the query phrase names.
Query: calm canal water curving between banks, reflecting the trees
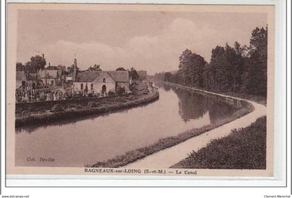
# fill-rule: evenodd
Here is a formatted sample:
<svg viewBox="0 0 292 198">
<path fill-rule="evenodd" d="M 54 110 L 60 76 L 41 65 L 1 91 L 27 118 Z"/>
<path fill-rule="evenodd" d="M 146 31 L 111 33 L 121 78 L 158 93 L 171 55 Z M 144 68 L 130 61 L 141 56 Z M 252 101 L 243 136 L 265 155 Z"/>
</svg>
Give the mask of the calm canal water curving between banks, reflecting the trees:
<svg viewBox="0 0 292 198">
<path fill-rule="evenodd" d="M 84 167 L 231 116 L 232 104 L 164 83 L 145 106 L 16 129 L 16 166 Z"/>
</svg>

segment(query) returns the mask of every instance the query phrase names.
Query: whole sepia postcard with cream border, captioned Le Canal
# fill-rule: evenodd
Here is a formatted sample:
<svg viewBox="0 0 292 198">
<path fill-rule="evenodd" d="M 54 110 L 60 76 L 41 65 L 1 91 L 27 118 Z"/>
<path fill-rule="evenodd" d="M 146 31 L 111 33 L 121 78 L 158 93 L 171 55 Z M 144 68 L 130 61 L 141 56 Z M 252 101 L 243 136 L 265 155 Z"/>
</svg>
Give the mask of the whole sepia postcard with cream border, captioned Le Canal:
<svg viewBox="0 0 292 198">
<path fill-rule="evenodd" d="M 274 174 L 275 7 L 8 3 L 6 174 Z"/>
</svg>

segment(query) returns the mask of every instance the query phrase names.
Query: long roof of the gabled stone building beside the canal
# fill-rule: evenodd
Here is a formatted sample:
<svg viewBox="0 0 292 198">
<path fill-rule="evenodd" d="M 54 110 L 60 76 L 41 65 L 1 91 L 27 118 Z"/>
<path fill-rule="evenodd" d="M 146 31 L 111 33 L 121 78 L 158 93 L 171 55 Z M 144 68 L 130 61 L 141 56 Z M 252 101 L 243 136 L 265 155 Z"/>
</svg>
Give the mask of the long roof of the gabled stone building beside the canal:
<svg viewBox="0 0 292 198">
<path fill-rule="evenodd" d="M 85 71 L 77 74 L 76 81 L 92 82 L 99 77 L 100 74 L 108 74 L 115 82 L 129 82 L 129 73 L 127 71 Z M 72 74 L 72 73 L 71 73 Z M 71 76 L 70 74 L 68 76 Z M 73 75 L 72 75 L 73 76 Z"/>
</svg>

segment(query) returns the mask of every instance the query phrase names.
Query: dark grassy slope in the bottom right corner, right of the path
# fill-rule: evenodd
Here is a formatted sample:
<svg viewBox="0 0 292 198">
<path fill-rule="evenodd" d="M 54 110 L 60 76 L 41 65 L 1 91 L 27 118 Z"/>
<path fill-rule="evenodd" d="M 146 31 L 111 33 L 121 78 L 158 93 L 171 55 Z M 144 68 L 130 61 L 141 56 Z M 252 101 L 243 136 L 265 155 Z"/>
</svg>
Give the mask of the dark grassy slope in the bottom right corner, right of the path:
<svg viewBox="0 0 292 198">
<path fill-rule="evenodd" d="M 266 169 L 266 116 L 245 129 L 211 141 L 173 168 Z"/>
</svg>

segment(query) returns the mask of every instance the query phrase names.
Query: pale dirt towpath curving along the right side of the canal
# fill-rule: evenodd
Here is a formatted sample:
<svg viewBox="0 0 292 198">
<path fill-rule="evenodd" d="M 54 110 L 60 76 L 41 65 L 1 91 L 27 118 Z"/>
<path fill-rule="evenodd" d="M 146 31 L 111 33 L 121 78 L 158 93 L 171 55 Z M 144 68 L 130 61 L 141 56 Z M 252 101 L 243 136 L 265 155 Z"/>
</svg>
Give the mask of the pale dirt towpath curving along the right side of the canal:
<svg viewBox="0 0 292 198">
<path fill-rule="evenodd" d="M 181 86 L 181 87 L 184 87 L 184 86 Z M 191 89 L 196 90 L 194 88 L 191 88 Z M 202 91 L 202 92 L 206 92 L 206 91 Z M 216 94 L 213 92 L 208 92 L 208 93 Z M 216 95 L 220 95 L 222 97 L 229 97 L 223 94 L 216 94 Z M 230 98 L 239 99 L 236 97 L 230 97 Z M 124 167 L 126 168 L 168 168 L 172 165 L 175 165 L 180 160 L 183 160 L 184 158 L 188 157 L 188 154 L 190 154 L 191 151 L 197 151 L 198 149 L 202 147 L 206 147 L 207 142 L 210 142 L 211 140 L 216 139 L 216 138 L 222 138 L 226 135 L 229 135 L 229 133 L 232 132 L 232 129 L 239 129 L 239 128 L 245 128 L 247 126 L 250 126 L 250 124 L 252 124 L 252 122 L 255 122 L 258 117 L 266 115 L 266 106 L 257 104 L 254 101 L 249 101 L 249 100 L 245 100 L 245 101 L 248 101 L 250 104 L 254 106 L 254 111 L 252 111 L 252 113 L 249 113 L 248 115 L 244 115 L 243 117 L 240 117 L 234 120 L 233 122 L 229 122 L 227 124 L 219 126 L 216 129 L 207 131 L 205 133 L 202 133 L 201 135 L 197 135 L 194 138 L 190 138 L 186 140 L 185 142 L 181 142 L 179 145 L 175 145 L 174 147 L 164 149 L 155 154 L 147 156 L 143 159 L 137 160 L 136 162 L 130 163 Z"/>
</svg>

